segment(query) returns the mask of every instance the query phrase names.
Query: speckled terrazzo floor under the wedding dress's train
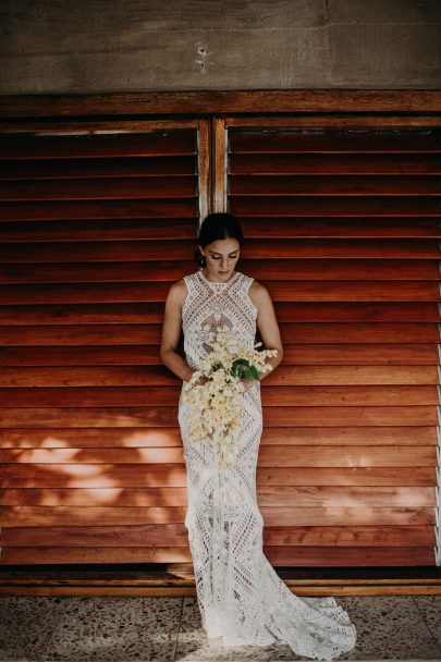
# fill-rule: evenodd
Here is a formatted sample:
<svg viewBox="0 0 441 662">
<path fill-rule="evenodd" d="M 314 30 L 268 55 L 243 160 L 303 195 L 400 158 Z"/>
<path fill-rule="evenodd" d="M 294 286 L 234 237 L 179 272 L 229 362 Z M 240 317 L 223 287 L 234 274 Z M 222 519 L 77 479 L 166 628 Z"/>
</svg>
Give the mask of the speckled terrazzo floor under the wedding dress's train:
<svg viewBox="0 0 441 662">
<path fill-rule="evenodd" d="M 339 660 L 440 660 L 441 596 L 342 597 L 357 645 Z M 0 597 L 2 662 L 307 660 L 286 646 L 223 649 L 196 598 Z"/>
</svg>

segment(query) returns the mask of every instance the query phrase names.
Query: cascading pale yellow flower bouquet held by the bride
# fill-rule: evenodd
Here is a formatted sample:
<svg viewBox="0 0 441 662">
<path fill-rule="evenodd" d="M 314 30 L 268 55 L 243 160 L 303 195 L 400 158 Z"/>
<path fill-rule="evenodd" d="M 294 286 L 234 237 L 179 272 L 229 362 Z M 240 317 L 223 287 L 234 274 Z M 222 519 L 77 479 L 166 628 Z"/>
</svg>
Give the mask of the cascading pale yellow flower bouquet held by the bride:
<svg viewBox="0 0 441 662">
<path fill-rule="evenodd" d="M 244 347 L 226 326 L 210 336 L 215 336 L 212 352 L 203 359 L 183 392 L 187 430 L 192 441 L 204 443 L 207 437 L 212 438 L 218 466 L 234 466 L 244 410 L 241 395 L 245 387 L 241 380 L 258 380 L 261 372 L 271 370 L 265 359 L 277 356 L 278 351 L 258 351 L 262 343 L 255 344 L 253 350 Z M 200 377 L 207 381 L 194 385 Z"/>
</svg>

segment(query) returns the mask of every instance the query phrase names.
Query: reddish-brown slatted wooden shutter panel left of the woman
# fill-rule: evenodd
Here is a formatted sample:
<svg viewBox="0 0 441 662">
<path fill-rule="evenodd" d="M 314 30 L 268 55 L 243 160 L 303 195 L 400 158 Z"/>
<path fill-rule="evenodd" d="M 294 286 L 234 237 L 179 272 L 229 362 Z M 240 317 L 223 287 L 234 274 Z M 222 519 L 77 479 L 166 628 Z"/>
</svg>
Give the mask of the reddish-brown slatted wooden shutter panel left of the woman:
<svg viewBox="0 0 441 662">
<path fill-rule="evenodd" d="M 194 269 L 207 135 L 0 138 L 2 565 L 191 557 L 159 343 Z"/>
</svg>

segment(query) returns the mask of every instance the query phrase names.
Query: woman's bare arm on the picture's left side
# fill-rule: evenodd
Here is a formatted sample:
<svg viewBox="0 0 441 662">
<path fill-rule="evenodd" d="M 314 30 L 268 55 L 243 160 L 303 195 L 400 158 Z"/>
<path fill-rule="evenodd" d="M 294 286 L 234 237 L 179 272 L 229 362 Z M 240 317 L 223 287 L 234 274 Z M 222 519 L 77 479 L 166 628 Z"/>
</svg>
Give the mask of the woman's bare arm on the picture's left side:
<svg viewBox="0 0 441 662">
<path fill-rule="evenodd" d="M 182 306 L 186 294 L 187 287 L 184 280 L 173 283 L 169 290 L 166 301 L 160 351 L 162 363 L 183 381 L 189 381 L 195 371 L 176 352 L 182 329 Z"/>
</svg>

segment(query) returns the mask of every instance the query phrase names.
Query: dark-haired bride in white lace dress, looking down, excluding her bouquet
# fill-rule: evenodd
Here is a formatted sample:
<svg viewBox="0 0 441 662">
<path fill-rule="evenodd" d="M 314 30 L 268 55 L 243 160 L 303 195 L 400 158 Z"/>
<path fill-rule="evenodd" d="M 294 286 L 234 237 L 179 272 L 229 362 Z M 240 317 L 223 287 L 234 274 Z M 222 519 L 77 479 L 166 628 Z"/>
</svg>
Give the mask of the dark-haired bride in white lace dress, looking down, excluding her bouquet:
<svg viewBox="0 0 441 662">
<path fill-rule="evenodd" d="M 262 552 L 264 520 L 257 505 L 256 465 L 262 432 L 260 380 L 244 381 L 244 413 L 236 464 L 219 468 L 212 440 L 188 438 L 183 393 L 211 351 L 218 328 L 254 347 L 258 329 L 275 369 L 283 347 L 268 290 L 235 269 L 244 244 L 230 213 L 211 213 L 201 224 L 195 256 L 199 269 L 172 284 L 162 327 L 161 359 L 183 380 L 179 425 L 187 469 L 185 526 L 197 600 L 207 637 L 224 646 L 287 643 L 301 655 L 333 660 L 355 646 L 356 629 L 334 598 L 301 598 L 280 579 Z M 177 353 L 184 334 L 185 359 Z M 199 383 L 204 383 L 200 378 Z"/>
</svg>

